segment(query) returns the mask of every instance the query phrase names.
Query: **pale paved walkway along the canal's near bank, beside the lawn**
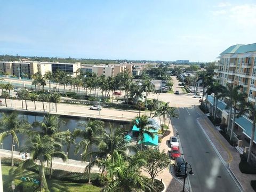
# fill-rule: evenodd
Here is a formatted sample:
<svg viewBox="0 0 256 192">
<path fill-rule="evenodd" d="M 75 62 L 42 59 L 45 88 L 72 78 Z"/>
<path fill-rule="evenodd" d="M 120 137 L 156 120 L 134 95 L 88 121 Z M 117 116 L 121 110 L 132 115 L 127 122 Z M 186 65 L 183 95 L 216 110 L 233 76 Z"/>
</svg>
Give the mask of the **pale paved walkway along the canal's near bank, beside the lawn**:
<svg viewBox="0 0 256 192">
<path fill-rule="evenodd" d="M 5 150 L 5 149 L 0 149 L 0 156 L 1 157 L 11 157 L 11 151 Z M 22 159 L 21 155 L 19 155 L 19 151 L 13 151 L 13 157 Z M 29 154 L 28 154 L 28 158 L 29 158 Z M 76 161 L 74 159 L 68 159 L 67 162 L 63 162 L 60 158 L 54 158 L 52 161 L 52 169 L 84 173 L 85 167 L 88 164 L 89 164 L 88 162 Z M 99 167 L 97 165 L 94 165 L 92 167 L 91 171 L 95 172 L 95 173 L 100 173 Z"/>
</svg>

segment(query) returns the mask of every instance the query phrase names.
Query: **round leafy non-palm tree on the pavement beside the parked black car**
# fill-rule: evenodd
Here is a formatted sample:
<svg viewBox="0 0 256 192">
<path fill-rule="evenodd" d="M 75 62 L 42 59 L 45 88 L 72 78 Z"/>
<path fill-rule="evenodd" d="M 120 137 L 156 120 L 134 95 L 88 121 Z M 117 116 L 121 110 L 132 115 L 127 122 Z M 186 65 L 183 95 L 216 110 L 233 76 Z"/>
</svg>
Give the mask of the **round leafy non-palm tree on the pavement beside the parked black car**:
<svg viewBox="0 0 256 192">
<path fill-rule="evenodd" d="M 170 163 L 169 156 L 163 150 L 159 149 L 146 149 L 139 152 L 139 156 L 143 157 L 147 162 L 143 165 L 145 171 L 150 175 L 152 179 L 152 185 L 154 185 L 154 179 L 156 175 L 164 170 Z"/>
</svg>

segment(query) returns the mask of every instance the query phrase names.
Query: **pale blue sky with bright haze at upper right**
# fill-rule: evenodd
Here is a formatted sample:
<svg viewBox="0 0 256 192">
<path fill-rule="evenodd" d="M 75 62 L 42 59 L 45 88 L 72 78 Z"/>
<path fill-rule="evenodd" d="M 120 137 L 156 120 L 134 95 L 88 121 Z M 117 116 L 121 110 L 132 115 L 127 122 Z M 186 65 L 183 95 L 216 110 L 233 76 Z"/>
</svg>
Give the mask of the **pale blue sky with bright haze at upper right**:
<svg viewBox="0 0 256 192">
<path fill-rule="evenodd" d="M 256 43 L 255 0 L 0 2 L 0 54 L 209 62 Z"/>
</svg>

